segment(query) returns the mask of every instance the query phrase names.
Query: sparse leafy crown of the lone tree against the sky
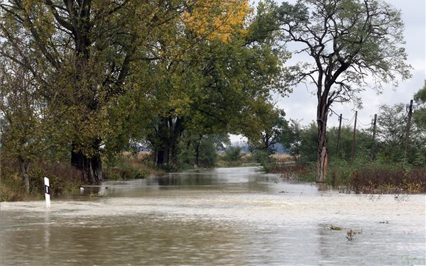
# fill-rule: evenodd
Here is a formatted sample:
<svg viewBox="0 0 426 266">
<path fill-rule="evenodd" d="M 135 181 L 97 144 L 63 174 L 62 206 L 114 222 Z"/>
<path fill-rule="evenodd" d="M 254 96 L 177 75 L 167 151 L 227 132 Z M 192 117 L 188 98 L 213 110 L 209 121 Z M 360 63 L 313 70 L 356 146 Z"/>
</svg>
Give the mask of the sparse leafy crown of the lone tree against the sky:
<svg viewBox="0 0 426 266">
<path fill-rule="evenodd" d="M 329 92 L 322 88 L 330 93 L 330 100 L 348 101 L 346 96 L 362 90 L 360 85 L 366 82 L 364 74 L 378 77 L 378 89 L 381 82 L 395 82 L 395 74 L 410 77 L 410 65 L 405 63 L 406 52 L 401 48 L 404 43 L 401 13 L 386 2 L 302 0 L 294 5 L 284 2 L 276 7 L 275 16 L 280 21 L 283 40 L 305 45 L 304 52 L 312 59 L 320 59 L 321 69 L 325 72 L 315 74 L 324 74 L 324 77 L 330 74 L 330 78 L 338 78 L 334 82 L 343 81 L 339 84 L 345 89 L 339 90 L 340 85 Z M 329 23 L 336 26 L 329 27 Z M 324 48 L 309 49 L 315 45 L 324 45 Z M 315 77 L 311 70 L 319 67 L 315 61 L 298 66 L 297 70 L 301 71 L 297 77 L 303 79 Z"/>
</svg>

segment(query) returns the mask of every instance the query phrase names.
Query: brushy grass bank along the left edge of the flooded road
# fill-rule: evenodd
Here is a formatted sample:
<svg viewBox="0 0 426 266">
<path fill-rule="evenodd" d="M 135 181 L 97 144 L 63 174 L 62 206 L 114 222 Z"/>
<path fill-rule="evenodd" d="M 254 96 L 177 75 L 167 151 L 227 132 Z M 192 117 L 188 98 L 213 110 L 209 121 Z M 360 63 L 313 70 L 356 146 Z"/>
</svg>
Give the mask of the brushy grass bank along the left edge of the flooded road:
<svg viewBox="0 0 426 266">
<path fill-rule="evenodd" d="M 50 179 L 50 193 L 54 196 L 75 192 L 84 184 L 79 171 L 65 162 L 33 162 L 29 168 L 30 192 L 21 181 L 19 167 L 15 163 L 1 163 L 0 201 L 28 201 L 43 199 L 43 177 Z M 123 153 L 104 162 L 104 180 L 142 179 L 149 174 L 157 174 L 148 153 Z"/>
</svg>

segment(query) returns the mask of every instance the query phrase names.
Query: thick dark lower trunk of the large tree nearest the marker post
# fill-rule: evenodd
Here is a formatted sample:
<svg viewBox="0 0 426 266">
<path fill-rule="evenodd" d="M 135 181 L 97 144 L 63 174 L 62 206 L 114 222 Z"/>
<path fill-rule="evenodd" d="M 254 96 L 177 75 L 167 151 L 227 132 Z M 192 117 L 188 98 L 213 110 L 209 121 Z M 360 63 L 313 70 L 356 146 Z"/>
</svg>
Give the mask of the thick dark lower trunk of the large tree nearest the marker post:
<svg viewBox="0 0 426 266">
<path fill-rule="evenodd" d="M 72 146 L 75 147 L 75 145 Z M 71 165 L 82 172 L 82 181 L 84 183 L 98 184 L 102 182 L 102 158 L 99 153 L 88 157 L 73 148 L 71 151 Z"/>
</svg>

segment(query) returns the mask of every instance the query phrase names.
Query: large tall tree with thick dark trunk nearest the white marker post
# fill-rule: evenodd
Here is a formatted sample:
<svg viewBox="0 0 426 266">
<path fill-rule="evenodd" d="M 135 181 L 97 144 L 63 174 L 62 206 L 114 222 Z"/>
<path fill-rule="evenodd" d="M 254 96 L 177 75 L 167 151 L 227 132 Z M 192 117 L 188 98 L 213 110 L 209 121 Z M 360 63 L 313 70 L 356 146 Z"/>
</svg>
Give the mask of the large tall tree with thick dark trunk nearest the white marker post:
<svg viewBox="0 0 426 266">
<path fill-rule="evenodd" d="M 109 106 L 124 94 L 131 64 L 153 60 L 150 48 L 184 1 L 13 0 L 0 4 L 0 55 L 33 74 L 39 89 L 61 99 L 71 163 L 87 182 L 102 180 Z M 11 50 L 23 60 L 16 57 Z M 25 50 L 37 55 L 31 64 Z M 48 65 L 41 72 L 38 65 Z"/>
</svg>

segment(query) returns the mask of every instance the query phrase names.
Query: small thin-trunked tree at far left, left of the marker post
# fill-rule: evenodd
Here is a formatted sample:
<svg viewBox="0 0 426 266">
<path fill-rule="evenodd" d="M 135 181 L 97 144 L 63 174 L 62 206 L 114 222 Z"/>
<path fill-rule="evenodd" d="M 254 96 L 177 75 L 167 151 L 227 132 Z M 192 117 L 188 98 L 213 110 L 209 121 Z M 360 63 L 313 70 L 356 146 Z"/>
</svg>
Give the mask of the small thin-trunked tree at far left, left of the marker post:
<svg viewBox="0 0 426 266">
<path fill-rule="evenodd" d="M 31 162 L 47 160 L 49 151 L 58 148 L 58 141 L 55 141 L 61 128 L 58 118 L 65 110 L 60 109 L 54 99 L 47 104 L 30 71 L 1 56 L 0 88 L 1 156 L 3 162 L 18 162 L 28 193 Z"/>
</svg>

